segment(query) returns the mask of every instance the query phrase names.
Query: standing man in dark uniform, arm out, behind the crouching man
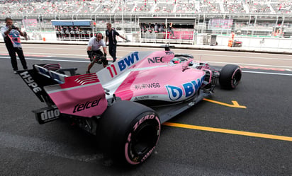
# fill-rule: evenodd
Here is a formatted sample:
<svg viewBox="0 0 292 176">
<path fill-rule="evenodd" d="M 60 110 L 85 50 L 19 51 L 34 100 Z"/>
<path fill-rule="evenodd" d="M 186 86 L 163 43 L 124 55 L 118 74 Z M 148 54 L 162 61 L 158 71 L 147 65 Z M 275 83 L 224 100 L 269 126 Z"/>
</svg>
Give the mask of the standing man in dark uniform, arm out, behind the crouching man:
<svg viewBox="0 0 292 176">
<path fill-rule="evenodd" d="M 126 40 L 125 37 L 120 35 L 115 29 L 111 28 L 111 23 L 106 23 L 106 42 L 108 42 L 108 52 L 113 57 L 113 62 L 116 61 L 116 49 L 117 49 L 117 40 L 116 36 L 118 35 L 123 40 Z"/>
</svg>

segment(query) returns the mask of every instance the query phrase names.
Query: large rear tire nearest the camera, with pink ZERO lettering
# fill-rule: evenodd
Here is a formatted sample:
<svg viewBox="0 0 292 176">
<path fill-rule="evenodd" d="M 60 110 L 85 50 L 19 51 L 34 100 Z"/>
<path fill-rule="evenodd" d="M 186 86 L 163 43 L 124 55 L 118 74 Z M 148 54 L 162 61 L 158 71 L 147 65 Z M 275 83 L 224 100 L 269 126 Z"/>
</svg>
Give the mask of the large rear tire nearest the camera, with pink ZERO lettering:
<svg viewBox="0 0 292 176">
<path fill-rule="evenodd" d="M 160 130 L 159 117 L 150 107 L 118 101 L 104 112 L 97 135 L 107 157 L 126 165 L 138 165 L 154 151 Z"/>
</svg>

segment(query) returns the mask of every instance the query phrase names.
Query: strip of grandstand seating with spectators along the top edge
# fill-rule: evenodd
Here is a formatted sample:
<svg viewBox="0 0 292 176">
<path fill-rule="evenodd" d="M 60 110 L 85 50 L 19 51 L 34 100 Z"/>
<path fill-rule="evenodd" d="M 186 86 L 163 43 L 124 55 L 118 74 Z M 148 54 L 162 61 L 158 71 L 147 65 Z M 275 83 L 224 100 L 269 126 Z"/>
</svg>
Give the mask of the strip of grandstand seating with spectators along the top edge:
<svg viewBox="0 0 292 176">
<path fill-rule="evenodd" d="M 6 15 L 60 13 L 291 13 L 289 0 L 0 0 Z"/>
</svg>

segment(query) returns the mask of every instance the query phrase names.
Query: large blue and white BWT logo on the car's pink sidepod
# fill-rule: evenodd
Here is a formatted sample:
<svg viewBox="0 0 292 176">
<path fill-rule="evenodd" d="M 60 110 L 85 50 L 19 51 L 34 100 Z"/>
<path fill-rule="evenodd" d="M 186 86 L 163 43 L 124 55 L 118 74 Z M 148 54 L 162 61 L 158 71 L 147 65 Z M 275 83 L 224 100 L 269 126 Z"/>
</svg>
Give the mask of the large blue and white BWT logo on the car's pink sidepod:
<svg viewBox="0 0 292 176">
<path fill-rule="evenodd" d="M 183 88 L 179 88 L 179 87 L 171 86 L 171 85 L 165 86 L 167 88 L 169 99 L 173 101 L 179 100 L 184 94 L 186 98 L 188 98 L 189 96 L 196 93 L 198 88 L 201 87 L 203 83 L 203 79 L 204 79 L 204 76 L 201 79 L 198 78 L 197 80 L 184 83 L 182 84 Z"/>
</svg>

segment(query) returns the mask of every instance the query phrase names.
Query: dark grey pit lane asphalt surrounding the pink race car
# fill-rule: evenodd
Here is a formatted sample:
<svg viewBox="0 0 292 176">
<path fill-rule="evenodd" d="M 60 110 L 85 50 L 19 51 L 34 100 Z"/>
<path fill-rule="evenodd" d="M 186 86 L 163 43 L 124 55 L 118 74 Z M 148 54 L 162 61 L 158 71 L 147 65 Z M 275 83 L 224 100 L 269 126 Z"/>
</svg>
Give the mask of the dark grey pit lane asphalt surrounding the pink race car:
<svg viewBox="0 0 292 176">
<path fill-rule="evenodd" d="M 37 58 L 27 57 L 30 68 L 48 62 Z M 83 62 L 50 63 L 77 67 L 82 73 L 88 61 L 76 60 Z M 155 153 L 144 164 L 105 166 L 99 143 L 91 136 L 64 121 L 37 123 L 31 110 L 45 104 L 13 74 L 8 56 L 0 56 L 0 61 L 0 175 L 292 175 L 292 141 L 165 125 Z M 291 138 L 291 71 L 243 71 L 236 90 L 215 88 L 212 100 L 235 100 L 246 109 L 202 101 L 169 122 Z"/>
</svg>

